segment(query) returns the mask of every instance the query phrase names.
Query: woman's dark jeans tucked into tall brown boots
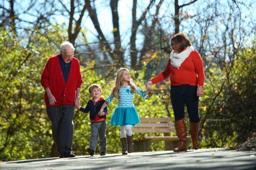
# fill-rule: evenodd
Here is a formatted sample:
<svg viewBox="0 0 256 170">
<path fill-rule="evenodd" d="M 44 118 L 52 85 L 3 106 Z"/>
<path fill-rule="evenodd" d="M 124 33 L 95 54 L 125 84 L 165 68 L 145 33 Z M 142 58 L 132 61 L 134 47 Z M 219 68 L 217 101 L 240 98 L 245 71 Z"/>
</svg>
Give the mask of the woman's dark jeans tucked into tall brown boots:
<svg viewBox="0 0 256 170">
<path fill-rule="evenodd" d="M 197 86 L 188 84 L 171 86 L 172 108 L 175 121 L 185 117 L 184 106 L 186 104 L 189 121 L 197 123 L 200 121 L 198 113 L 199 97 L 196 95 Z"/>
</svg>

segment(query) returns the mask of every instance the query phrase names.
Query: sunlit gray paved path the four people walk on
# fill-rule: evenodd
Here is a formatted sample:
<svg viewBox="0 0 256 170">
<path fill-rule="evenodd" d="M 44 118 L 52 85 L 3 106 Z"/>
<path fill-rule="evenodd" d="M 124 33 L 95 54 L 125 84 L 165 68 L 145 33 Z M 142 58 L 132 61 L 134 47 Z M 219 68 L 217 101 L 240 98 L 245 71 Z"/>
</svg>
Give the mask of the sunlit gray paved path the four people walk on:
<svg viewBox="0 0 256 170">
<path fill-rule="evenodd" d="M 75 158 L 45 158 L 0 163 L 0 169 L 256 169 L 256 151 L 227 151 L 222 148 L 135 152 Z"/>
</svg>

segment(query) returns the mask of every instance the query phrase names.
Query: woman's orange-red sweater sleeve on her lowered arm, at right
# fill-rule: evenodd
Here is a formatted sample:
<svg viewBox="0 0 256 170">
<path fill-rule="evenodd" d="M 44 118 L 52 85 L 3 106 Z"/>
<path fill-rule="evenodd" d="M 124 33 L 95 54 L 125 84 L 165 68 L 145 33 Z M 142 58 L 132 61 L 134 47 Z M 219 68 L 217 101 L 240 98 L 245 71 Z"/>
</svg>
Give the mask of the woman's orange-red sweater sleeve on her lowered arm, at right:
<svg viewBox="0 0 256 170">
<path fill-rule="evenodd" d="M 195 53 L 193 57 L 193 62 L 195 65 L 195 70 L 198 75 L 198 86 L 204 86 L 204 65 L 202 58 L 198 52 Z"/>
</svg>

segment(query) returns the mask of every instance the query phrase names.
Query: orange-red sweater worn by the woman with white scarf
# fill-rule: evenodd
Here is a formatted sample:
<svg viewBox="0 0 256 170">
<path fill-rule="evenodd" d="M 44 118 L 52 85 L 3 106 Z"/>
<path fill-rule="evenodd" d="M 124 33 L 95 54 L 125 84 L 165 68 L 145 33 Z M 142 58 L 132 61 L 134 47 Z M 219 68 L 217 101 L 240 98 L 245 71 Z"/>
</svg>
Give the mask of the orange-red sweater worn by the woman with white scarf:
<svg viewBox="0 0 256 170">
<path fill-rule="evenodd" d="M 182 84 L 204 86 L 204 66 L 199 53 L 197 51 L 191 52 L 179 69 L 171 65 L 169 58 L 164 71 L 151 79 L 151 81 L 156 84 L 167 79 L 170 75 L 171 85 L 174 86 Z"/>
</svg>

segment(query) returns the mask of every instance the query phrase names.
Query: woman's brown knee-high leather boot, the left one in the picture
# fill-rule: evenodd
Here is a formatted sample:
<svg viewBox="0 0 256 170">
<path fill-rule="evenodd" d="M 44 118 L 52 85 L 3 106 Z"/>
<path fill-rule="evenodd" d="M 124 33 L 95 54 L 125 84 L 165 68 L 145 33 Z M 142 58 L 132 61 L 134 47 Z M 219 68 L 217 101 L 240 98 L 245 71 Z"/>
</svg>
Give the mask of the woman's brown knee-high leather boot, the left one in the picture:
<svg viewBox="0 0 256 170">
<path fill-rule="evenodd" d="M 186 128 L 186 123 L 184 118 L 182 118 L 179 121 L 175 121 L 174 124 L 175 124 L 175 129 L 178 135 L 178 139 L 179 139 L 179 147 L 175 148 L 173 151 L 174 152 L 187 151 L 187 145 L 186 145 L 187 128 Z"/>
</svg>

